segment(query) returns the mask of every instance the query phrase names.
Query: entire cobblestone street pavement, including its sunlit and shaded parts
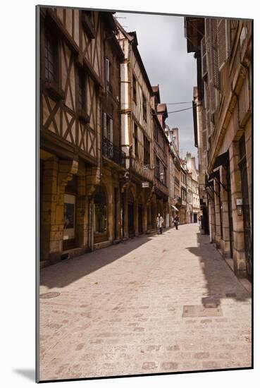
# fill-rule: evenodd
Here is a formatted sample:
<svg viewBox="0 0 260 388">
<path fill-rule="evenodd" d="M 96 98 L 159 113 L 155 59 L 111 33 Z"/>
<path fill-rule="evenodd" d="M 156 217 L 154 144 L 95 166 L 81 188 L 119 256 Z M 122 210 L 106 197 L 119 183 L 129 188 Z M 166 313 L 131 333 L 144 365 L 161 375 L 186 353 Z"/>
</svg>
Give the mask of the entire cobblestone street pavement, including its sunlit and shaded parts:
<svg viewBox="0 0 260 388">
<path fill-rule="evenodd" d="M 40 380 L 251 366 L 250 294 L 197 224 L 44 268 L 49 292 Z"/>
</svg>

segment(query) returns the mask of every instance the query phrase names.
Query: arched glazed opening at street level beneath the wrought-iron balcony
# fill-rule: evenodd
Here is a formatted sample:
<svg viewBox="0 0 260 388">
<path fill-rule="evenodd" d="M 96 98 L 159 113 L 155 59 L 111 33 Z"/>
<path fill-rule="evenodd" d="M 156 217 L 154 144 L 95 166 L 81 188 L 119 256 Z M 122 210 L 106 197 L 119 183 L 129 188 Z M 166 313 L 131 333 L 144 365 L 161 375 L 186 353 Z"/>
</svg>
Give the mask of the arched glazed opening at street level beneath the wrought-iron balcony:
<svg viewBox="0 0 260 388">
<path fill-rule="evenodd" d="M 99 186 L 94 193 L 94 243 L 108 239 L 106 193 Z"/>
</svg>

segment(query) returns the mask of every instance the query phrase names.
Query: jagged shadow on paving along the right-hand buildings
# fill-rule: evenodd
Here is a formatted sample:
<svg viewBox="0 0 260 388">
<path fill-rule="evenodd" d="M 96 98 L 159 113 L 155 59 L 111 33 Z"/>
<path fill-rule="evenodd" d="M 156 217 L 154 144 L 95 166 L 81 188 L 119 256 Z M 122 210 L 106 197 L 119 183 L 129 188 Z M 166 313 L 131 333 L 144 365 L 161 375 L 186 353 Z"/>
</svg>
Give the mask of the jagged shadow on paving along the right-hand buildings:
<svg viewBox="0 0 260 388">
<path fill-rule="evenodd" d="M 220 305 L 223 298 L 233 298 L 236 301 L 250 299 L 250 293 L 244 289 L 223 257 L 209 242 L 209 236 L 197 233 L 197 245 L 186 249 L 199 257 L 204 272 L 207 292 L 202 298 L 202 304 Z"/>
</svg>

